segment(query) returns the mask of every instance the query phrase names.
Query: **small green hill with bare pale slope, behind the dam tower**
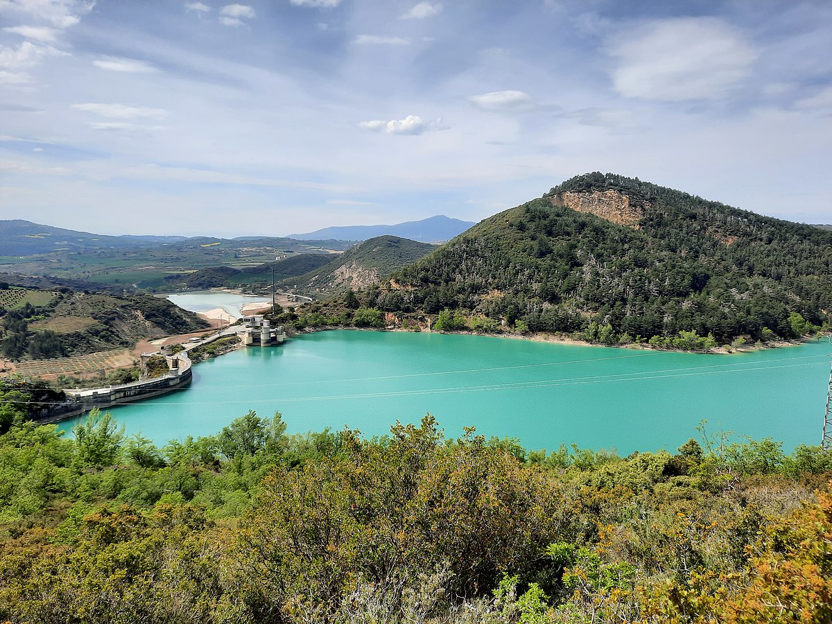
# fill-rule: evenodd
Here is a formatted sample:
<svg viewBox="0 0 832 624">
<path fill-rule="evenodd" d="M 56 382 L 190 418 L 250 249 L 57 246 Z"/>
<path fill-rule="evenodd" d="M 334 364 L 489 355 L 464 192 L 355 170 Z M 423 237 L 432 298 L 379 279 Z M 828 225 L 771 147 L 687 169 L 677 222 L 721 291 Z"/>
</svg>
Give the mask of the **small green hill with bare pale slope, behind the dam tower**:
<svg viewBox="0 0 832 624">
<path fill-rule="evenodd" d="M 282 280 L 280 287 L 300 294 L 334 295 L 386 280 L 402 267 L 435 250 L 434 245 L 398 236 L 378 236 L 355 245 L 328 264 L 305 275 Z"/>
</svg>

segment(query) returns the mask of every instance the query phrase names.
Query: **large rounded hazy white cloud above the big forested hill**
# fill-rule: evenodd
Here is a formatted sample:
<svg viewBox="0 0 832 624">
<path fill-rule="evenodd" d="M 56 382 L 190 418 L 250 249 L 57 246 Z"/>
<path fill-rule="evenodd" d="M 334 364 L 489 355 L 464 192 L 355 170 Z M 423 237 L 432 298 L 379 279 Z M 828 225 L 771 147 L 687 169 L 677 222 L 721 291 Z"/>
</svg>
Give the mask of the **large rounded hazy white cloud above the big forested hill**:
<svg viewBox="0 0 832 624">
<path fill-rule="evenodd" d="M 738 29 L 714 17 L 646 23 L 613 37 L 608 49 L 618 60 L 617 92 L 665 102 L 723 97 L 757 57 Z"/>
</svg>

